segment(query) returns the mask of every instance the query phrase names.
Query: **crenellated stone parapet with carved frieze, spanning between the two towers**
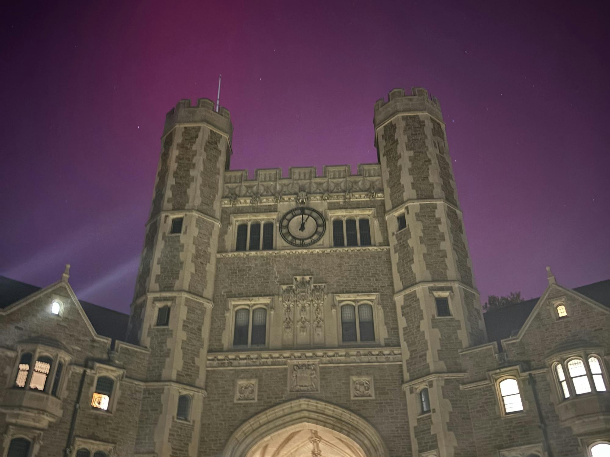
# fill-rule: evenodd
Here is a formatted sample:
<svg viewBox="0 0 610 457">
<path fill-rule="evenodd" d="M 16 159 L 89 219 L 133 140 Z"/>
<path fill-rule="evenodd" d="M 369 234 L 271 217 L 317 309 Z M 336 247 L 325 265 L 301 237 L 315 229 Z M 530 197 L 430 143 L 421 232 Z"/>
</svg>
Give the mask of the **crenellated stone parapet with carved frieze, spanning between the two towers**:
<svg viewBox="0 0 610 457">
<path fill-rule="evenodd" d="M 383 198 L 381 166 L 377 163 L 358 165 L 357 174 L 351 174 L 349 165 L 325 166 L 321 176 L 311 166 L 290 167 L 287 177 L 282 177 L 281 168 L 256 169 L 255 174 L 256 178 L 249 180 L 247 170 L 226 171 L 223 205 Z"/>
</svg>

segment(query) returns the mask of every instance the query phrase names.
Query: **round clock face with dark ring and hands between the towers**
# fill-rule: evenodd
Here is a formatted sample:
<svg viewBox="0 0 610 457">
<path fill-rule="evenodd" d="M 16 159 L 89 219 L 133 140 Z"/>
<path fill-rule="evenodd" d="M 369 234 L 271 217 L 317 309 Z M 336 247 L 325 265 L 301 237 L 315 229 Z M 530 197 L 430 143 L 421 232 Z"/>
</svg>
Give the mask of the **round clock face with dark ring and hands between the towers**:
<svg viewBox="0 0 610 457">
<path fill-rule="evenodd" d="M 279 234 L 292 246 L 311 246 L 320 241 L 325 230 L 324 216 L 314 208 L 293 208 L 279 221 Z"/>
</svg>

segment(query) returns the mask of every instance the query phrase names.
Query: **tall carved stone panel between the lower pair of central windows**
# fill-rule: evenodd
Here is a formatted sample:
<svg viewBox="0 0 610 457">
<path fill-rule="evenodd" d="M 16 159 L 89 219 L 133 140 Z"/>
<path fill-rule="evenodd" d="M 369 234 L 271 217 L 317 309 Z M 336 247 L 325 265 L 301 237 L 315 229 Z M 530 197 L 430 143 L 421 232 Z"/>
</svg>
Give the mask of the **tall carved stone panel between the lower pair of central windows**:
<svg viewBox="0 0 610 457">
<path fill-rule="evenodd" d="M 311 276 L 295 276 L 292 285 L 281 286 L 279 300 L 286 344 L 324 342 L 325 284 L 314 284 Z"/>
</svg>

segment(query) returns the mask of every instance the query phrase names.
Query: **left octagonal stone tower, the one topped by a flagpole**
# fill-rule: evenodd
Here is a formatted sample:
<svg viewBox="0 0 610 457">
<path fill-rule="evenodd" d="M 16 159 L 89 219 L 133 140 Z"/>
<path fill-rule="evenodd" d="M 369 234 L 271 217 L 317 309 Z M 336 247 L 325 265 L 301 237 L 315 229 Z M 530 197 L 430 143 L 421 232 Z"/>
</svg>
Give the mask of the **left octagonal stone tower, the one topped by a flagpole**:
<svg viewBox="0 0 610 457">
<path fill-rule="evenodd" d="M 231 136 L 228 110 L 208 99 L 182 100 L 165 120 L 127 335 L 151 350 L 135 455 L 198 454 Z M 189 420 L 176 419 L 180 395 L 190 397 Z"/>
</svg>

